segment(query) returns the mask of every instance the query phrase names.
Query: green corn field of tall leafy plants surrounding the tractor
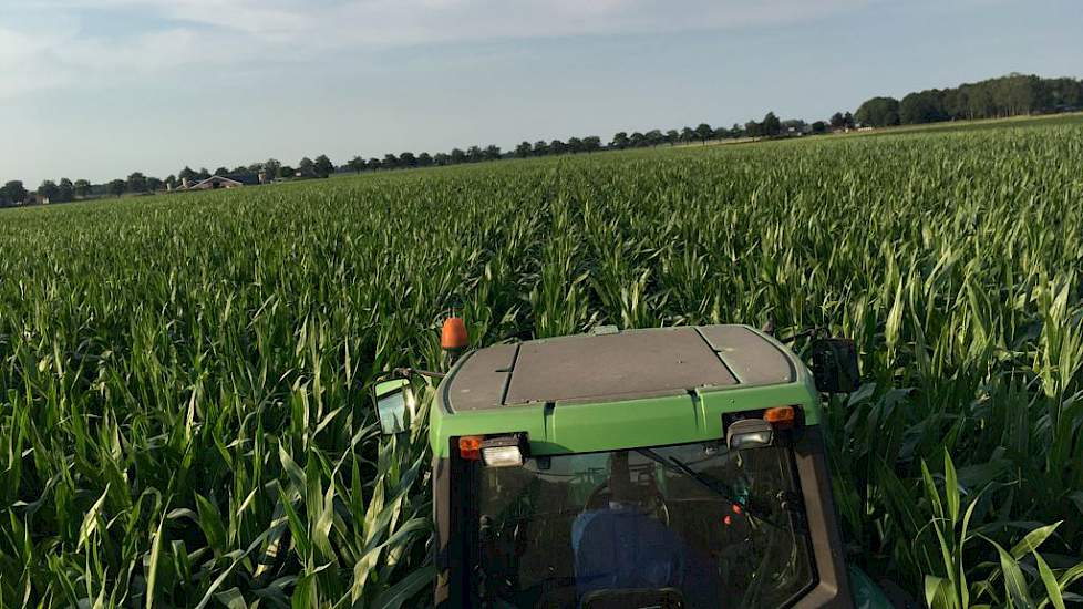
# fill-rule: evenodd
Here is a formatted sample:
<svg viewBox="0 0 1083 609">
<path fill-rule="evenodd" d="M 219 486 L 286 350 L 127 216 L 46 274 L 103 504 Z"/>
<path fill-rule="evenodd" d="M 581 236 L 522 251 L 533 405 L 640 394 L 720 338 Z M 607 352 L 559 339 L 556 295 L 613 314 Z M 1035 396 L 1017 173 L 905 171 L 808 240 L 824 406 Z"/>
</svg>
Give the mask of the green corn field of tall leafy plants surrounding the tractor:
<svg viewBox="0 0 1083 609">
<path fill-rule="evenodd" d="M 826 414 L 849 560 L 934 607 L 1063 607 L 1081 273 L 1079 124 L 6 210 L 0 603 L 423 605 L 427 434 L 381 438 L 368 391 L 439 367 L 454 307 L 477 344 L 853 337 L 864 384 Z"/>
</svg>

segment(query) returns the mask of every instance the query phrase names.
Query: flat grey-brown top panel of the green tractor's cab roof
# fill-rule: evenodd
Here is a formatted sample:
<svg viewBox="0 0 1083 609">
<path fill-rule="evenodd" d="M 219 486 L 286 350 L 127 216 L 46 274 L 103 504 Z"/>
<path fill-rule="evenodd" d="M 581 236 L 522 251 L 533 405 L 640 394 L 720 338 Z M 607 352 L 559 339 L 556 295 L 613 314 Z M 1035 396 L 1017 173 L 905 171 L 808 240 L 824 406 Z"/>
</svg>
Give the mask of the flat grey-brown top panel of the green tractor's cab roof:
<svg viewBox="0 0 1083 609">
<path fill-rule="evenodd" d="M 787 384 L 798 365 L 774 339 L 746 326 L 599 329 L 477 350 L 450 374 L 441 398 L 448 414 L 602 403 Z"/>
</svg>

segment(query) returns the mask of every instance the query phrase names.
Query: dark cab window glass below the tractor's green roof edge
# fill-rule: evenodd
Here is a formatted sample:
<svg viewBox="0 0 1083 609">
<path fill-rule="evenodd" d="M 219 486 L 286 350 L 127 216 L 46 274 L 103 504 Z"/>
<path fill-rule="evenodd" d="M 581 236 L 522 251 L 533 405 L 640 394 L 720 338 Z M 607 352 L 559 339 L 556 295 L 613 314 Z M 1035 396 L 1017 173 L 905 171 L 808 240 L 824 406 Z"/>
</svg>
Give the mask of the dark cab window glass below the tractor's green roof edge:
<svg viewBox="0 0 1083 609">
<path fill-rule="evenodd" d="M 816 580 L 792 452 L 724 442 L 476 472 L 484 607 L 785 607 Z"/>
</svg>

